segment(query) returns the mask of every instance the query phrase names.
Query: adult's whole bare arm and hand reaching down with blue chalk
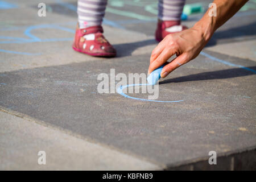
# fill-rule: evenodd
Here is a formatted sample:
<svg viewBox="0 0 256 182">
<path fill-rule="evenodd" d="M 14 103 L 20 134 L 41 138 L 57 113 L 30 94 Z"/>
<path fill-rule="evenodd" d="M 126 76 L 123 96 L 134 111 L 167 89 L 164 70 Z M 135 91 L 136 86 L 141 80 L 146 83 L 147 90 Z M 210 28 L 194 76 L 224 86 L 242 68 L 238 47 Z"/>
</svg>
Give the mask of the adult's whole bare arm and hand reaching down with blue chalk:
<svg viewBox="0 0 256 182">
<path fill-rule="evenodd" d="M 148 73 L 166 63 L 176 54 L 176 58 L 163 67 L 161 77 L 166 77 L 174 69 L 188 63 L 199 55 L 214 31 L 237 13 L 248 0 L 214 0 L 213 5 L 192 28 L 176 34 L 169 34 L 156 46 L 150 57 Z M 213 15 L 214 9 L 216 15 Z"/>
</svg>

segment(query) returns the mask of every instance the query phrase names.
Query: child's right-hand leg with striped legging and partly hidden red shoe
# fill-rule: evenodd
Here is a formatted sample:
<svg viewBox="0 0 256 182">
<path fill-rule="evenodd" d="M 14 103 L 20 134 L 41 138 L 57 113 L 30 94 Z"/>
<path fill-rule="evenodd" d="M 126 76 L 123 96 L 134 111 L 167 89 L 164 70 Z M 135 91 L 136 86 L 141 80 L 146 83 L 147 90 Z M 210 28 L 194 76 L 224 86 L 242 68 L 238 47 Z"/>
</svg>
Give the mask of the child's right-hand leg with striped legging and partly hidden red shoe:
<svg viewBox="0 0 256 182">
<path fill-rule="evenodd" d="M 158 1 L 158 27 L 155 37 L 159 42 L 168 34 L 174 34 L 187 29 L 181 26 L 180 19 L 185 0 L 159 0 Z"/>
</svg>

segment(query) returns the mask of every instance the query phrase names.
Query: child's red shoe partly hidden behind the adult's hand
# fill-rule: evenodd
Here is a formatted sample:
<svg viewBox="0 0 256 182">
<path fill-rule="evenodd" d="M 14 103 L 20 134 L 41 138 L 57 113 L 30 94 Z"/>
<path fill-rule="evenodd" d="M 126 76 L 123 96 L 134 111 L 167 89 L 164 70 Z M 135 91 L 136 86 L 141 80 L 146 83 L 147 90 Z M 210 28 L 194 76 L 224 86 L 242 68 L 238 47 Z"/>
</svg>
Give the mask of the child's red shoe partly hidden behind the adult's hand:
<svg viewBox="0 0 256 182">
<path fill-rule="evenodd" d="M 188 29 L 186 26 L 180 24 L 180 21 L 162 21 L 158 20 L 158 27 L 155 31 L 155 40 L 161 42 L 166 35 L 174 34 Z"/>
</svg>

